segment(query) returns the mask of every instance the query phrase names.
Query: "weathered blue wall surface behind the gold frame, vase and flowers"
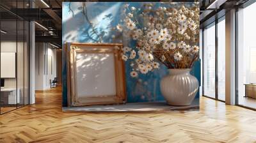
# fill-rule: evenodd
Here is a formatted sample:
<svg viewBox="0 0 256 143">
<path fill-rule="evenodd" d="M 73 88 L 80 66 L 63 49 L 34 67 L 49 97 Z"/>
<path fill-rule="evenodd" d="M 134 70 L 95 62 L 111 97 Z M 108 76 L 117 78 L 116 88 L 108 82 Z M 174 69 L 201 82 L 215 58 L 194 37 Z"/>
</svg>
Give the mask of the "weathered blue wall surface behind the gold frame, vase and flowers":
<svg viewBox="0 0 256 143">
<path fill-rule="evenodd" d="M 123 33 L 116 32 L 116 26 L 124 19 L 124 6 L 143 8 L 148 2 L 64 2 L 62 33 L 63 43 L 123 43 L 124 46 L 135 47 L 136 42 L 129 39 Z M 180 4 L 194 6 L 195 3 L 162 3 L 156 2 L 154 6 L 177 7 Z M 199 38 L 199 36 L 198 36 Z M 199 43 L 198 43 L 199 45 Z M 63 61 L 66 61 L 63 50 Z M 67 106 L 67 64 L 63 62 L 63 106 Z M 147 74 L 140 74 L 132 78 L 132 68 L 129 62 L 125 62 L 125 77 L 127 85 L 127 102 L 156 102 L 163 101 L 160 91 L 160 80 L 168 74 L 164 64 L 160 64 L 160 70 Z M 196 61 L 191 74 L 200 82 L 200 61 Z M 199 98 L 199 92 L 196 94 Z"/>
</svg>

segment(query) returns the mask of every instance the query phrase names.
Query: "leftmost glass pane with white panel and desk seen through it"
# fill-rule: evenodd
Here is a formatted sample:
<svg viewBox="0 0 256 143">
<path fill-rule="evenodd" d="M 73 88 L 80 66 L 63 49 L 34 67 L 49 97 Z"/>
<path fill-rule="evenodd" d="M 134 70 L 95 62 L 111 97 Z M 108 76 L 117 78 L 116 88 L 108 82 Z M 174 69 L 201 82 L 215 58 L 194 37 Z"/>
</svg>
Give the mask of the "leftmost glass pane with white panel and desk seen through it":
<svg viewBox="0 0 256 143">
<path fill-rule="evenodd" d="M 17 21 L 1 21 L 1 113 L 17 108 Z M 3 33 L 4 31 L 4 33 Z"/>
</svg>

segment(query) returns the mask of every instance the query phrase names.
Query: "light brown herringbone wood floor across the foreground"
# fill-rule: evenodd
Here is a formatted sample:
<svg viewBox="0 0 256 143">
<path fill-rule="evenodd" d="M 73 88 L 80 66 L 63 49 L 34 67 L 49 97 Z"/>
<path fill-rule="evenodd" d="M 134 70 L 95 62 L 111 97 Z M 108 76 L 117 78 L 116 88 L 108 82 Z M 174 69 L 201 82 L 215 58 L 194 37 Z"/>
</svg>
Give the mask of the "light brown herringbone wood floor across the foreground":
<svg viewBox="0 0 256 143">
<path fill-rule="evenodd" d="M 201 98 L 200 111 L 61 111 L 61 89 L 0 116 L 0 142 L 256 142 L 256 112 Z"/>
</svg>

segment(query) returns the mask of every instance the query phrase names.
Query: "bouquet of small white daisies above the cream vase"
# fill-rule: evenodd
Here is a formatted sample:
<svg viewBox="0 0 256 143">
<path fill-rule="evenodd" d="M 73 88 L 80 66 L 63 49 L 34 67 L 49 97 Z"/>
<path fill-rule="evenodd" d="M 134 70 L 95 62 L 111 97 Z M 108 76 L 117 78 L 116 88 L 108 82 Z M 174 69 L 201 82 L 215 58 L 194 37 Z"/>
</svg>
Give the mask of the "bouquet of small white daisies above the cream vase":
<svg viewBox="0 0 256 143">
<path fill-rule="evenodd" d="M 198 59 L 198 3 L 179 8 L 168 4 L 154 8 L 147 3 L 143 10 L 124 6 L 125 17 L 116 29 L 136 40 L 136 48 L 122 49 L 122 59 L 131 59 L 132 77 L 156 70 L 159 61 L 168 68 L 191 68 Z"/>
</svg>

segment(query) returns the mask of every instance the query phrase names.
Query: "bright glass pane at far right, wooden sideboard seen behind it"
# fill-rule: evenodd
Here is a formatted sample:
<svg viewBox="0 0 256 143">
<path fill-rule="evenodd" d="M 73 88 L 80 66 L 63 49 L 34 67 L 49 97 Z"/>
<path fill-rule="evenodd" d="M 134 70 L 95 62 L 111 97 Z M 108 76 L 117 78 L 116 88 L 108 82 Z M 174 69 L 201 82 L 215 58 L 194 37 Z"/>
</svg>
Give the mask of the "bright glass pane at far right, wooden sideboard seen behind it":
<svg viewBox="0 0 256 143">
<path fill-rule="evenodd" d="M 256 109 L 256 3 L 237 11 L 237 103 Z"/>
</svg>

